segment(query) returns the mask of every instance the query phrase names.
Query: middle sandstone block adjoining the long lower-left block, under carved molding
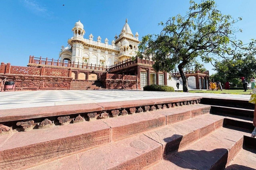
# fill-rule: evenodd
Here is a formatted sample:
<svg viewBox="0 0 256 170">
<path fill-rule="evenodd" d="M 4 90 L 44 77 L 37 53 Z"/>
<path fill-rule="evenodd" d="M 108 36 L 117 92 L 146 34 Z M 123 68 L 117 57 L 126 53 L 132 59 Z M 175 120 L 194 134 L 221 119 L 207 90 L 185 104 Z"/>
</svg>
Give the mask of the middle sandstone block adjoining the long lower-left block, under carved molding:
<svg viewBox="0 0 256 170">
<path fill-rule="evenodd" d="M 102 121 L 111 127 L 111 141 L 166 125 L 166 117 L 155 112 L 119 116 Z"/>
</svg>

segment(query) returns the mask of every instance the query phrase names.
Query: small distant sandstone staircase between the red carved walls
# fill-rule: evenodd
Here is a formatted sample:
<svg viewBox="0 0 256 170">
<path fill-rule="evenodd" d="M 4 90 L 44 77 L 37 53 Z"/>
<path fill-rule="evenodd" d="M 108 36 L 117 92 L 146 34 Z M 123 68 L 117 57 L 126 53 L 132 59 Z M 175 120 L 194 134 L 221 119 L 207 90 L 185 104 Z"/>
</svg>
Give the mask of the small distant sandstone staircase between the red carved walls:
<svg viewBox="0 0 256 170">
<path fill-rule="evenodd" d="M 100 90 L 105 89 L 101 80 L 72 80 L 70 90 Z"/>
</svg>

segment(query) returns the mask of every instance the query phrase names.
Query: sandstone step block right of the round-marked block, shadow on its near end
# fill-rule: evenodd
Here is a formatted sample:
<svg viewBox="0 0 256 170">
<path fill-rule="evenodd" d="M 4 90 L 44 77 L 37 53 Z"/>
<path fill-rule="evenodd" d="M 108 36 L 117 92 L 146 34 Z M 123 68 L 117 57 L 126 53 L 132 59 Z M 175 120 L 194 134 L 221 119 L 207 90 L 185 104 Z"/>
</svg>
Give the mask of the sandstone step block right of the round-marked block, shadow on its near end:
<svg viewBox="0 0 256 170">
<path fill-rule="evenodd" d="M 165 157 L 222 127 L 223 119 L 222 116 L 207 114 L 144 134 L 163 145 L 163 156 Z"/>
</svg>

